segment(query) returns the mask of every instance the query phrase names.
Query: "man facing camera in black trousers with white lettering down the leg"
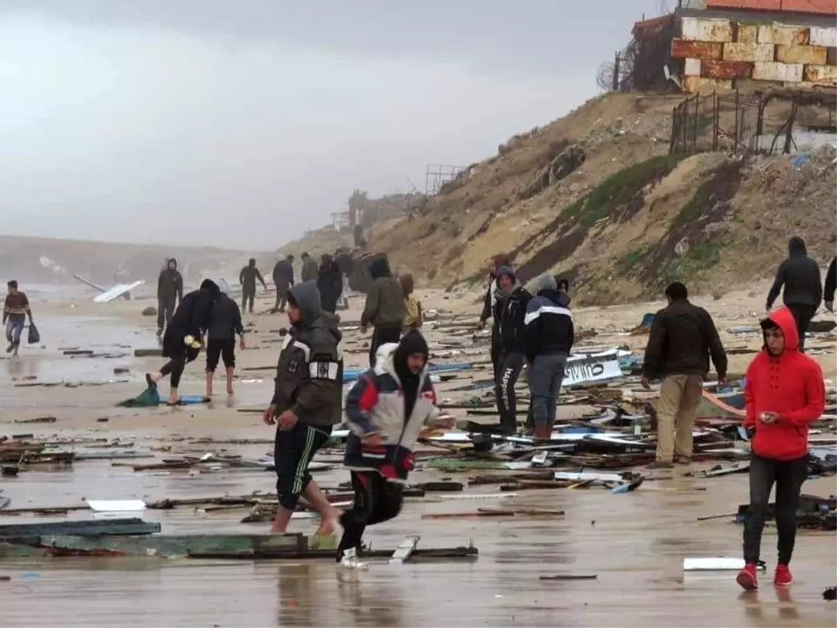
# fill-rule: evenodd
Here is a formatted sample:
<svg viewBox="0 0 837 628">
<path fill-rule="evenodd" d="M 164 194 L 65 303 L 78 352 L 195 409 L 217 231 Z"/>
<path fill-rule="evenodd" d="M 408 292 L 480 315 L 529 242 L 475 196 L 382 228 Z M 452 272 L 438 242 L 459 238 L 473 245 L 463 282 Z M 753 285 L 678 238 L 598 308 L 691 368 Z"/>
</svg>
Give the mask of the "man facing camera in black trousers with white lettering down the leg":
<svg viewBox="0 0 837 628">
<path fill-rule="evenodd" d="M 526 352 L 524 329 L 526 307 L 531 295 L 517 281 L 511 266 L 497 269 L 496 283 L 502 294 L 494 305 L 494 319 L 498 323 L 500 339 L 495 395 L 500 412 L 500 429 L 506 434 L 514 434 L 517 430 L 515 383 L 520 377 L 523 354 Z"/>
</svg>

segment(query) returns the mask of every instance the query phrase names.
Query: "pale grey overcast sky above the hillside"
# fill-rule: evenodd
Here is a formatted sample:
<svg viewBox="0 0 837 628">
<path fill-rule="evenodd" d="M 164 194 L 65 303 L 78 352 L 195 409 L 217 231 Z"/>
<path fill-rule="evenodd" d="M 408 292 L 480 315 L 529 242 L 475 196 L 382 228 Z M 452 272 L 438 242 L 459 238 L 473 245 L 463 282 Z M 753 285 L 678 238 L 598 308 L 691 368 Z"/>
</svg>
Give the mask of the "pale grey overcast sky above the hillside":
<svg viewBox="0 0 837 628">
<path fill-rule="evenodd" d="M 595 94 L 660 0 L 0 0 L 3 233 L 274 249 Z"/>
</svg>

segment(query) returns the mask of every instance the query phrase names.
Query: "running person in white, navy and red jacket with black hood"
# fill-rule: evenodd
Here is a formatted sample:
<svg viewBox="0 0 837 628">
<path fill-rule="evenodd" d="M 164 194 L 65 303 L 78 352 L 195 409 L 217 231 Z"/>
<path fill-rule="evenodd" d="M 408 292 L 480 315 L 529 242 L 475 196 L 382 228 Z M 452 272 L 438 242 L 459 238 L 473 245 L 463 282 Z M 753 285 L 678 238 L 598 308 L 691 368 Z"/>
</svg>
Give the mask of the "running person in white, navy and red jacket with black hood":
<svg viewBox="0 0 837 628">
<path fill-rule="evenodd" d="M 346 419 L 350 428 L 345 464 L 352 471 L 355 498 L 340 517 L 343 536 L 337 562 L 360 568 L 357 552 L 367 526 L 401 512 L 403 487 L 413 469 L 413 447 L 425 425 L 450 428 L 453 417 L 436 408 L 428 373 L 429 348 L 417 331 L 398 344 L 380 347 L 381 358 L 349 391 Z"/>
</svg>

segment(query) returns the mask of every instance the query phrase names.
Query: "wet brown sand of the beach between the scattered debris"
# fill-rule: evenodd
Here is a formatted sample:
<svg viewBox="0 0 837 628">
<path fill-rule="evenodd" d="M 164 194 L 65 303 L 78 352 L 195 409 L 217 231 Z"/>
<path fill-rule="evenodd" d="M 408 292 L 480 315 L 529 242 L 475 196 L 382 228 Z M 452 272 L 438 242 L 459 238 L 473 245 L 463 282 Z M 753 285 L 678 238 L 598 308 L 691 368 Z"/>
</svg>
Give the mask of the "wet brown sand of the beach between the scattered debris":
<svg viewBox="0 0 837 628">
<path fill-rule="evenodd" d="M 759 294 L 763 294 L 760 291 Z M 759 297 L 760 299 L 760 297 Z M 424 299 L 426 307 L 450 309 L 475 306 L 467 301 L 444 300 L 434 294 Z M 756 311 L 747 295 L 727 302 L 708 302 L 719 327 L 749 324 Z M 701 301 L 698 301 L 701 302 Z M 701 304 L 704 304 L 701 302 Z M 91 304 L 92 305 L 92 304 Z M 141 389 L 141 373 L 159 364 L 159 358 L 68 358 L 54 347 L 49 317 L 54 317 L 55 336 L 61 342 L 85 347 L 90 333 L 97 342 L 153 347 L 153 321 L 136 311 L 146 303 L 117 303 L 107 310 L 100 306 L 78 306 L 72 310 L 55 307 L 44 312 L 42 336 L 47 349 L 22 352 L 18 361 L 0 363 L 0 420 L 54 415 L 51 425 L 0 424 L 0 434 L 106 436 L 136 443 L 135 449 L 149 450 L 172 435 L 216 438 L 266 438 L 273 430 L 260 424 L 257 414 L 236 410 L 264 405 L 270 398 L 273 373 L 257 373 L 260 381 L 239 383 L 234 399 L 219 395 L 210 408 L 115 409 L 113 403 Z M 266 309 L 262 301 L 257 309 Z M 344 314 L 357 320 L 359 302 Z M 614 331 L 633 327 L 644 311 L 655 306 L 578 311 L 582 327 L 608 327 Z M 724 312 L 720 316 L 721 310 Z M 80 327 L 66 316 L 103 316 L 105 321 L 85 321 Z M 728 319 L 728 320 L 727 320 Z M 259 334 L 285 326 L 280 315 L 248 317 Z M 111 327 L 112 326 L 112 329 Z M 123 329 L 124 332 L 117 330 Z M 111 329 L 113 332 L 105 332 Z M 63 331 L 62 331 L 63 330 Z M 100 330 L 99 332 L 90 330 Z M 136 331 L 138 330 L 138 331 Z M 124 336 L 122 335 L 124 333 Z M 354 332 L 357 335 L 357 332 Z M 438 337 L 430 332 L 431 339 Z M 349 334 L 352 337 L 352 333 Z M 106 338 L 103 340 L 103 338 Z M 604 337 L 595 342 L 642 347 L 643 337 Z M 728 344 L 742 344 L 725 335 Z M 757 345 L 757 338 L 750 339 Z M 817 344 L 821 342 L 817 341 Z M 251 344 L 257 344 L 251 342 Z M 64 346 L 64 345 L 60 345 Z M 125 350 L 128 352 L 129 350 Z M 278 345 L 240 353 L 240 366 L 275 363 Z M 818 357 L 819 358 L 819 357 Z M 360 365 L 363 354 L 348 354 L 350 366 Z M 733 368 L 743 370 L 750 358 L 733 357 Z M 824 355 L 826 377 L 833 376 L 832 355 Z M 465 360 L 463 360 L 465 361 Z M 107 362 L 107 363 L 105 363 Z M 14 389 L 11 376 L 36 374 L 51 378 L 105 377 L 114 364 L 128 366 L 128 383 L 79 388 Z M 79 366 L 82 365 L 82 366 Z M 34 373 L 33 373 L 34 371 Z M 8 374 L 7 374 L 8 373 Z M 69 373 L 69 374 L 67 374 Z M 242 373 L 250 377 L 252 373 Z M 484 375 L 481 375 L 484 377 Z M 216 383 L 216 387 L 218 384 Z M 456 380 L 452 383 L 455 385 Z M 223 390 L 223 383 L 221 390 Z M 139 389 L 138 389 L 139 387 Z M 443 387 L 444 388 L 444 387 Z M 162 386 L 162 392 L 167 390 Z M 187 369 L 183 394 L 203 391 L 202 364 Z M 461 393 L 460 393 L 461 394 Z M 460 395 L 457 394 L 457 395 Z M 454 396 L 444 394 L 442 396 Z M 110 418 L 100 424 L 96 419 Z M 244 457 L 263 456 L 270 445 L 188 445 L 203 453 L 218 446 Z M 186 445 L 175 444 L 177 451 Z M 150 452 L 151 456 L 162 456 Z M 125 461 L 132 462 L 132 461 Z M 700 466 L 694 465 L 695 468 Z M 684 574 L 684 557 L 740 555 L 742 528 L 726 518 L 697 522 L 697 517 L 734 512 L 747 501 L 747 477 L 711 479 L 682 477 L 685 469 L 658 471 L 660 481 L 648 481 L 636 492 L 611 495 L 600 490 L 569 489 L 519 492 L 516 497 L 496 500 L 434 497 L 411 499 L 403 514 L 393 522 L 370 528 L 367 541 L 374 548 L 395 548 L 405 535 L 421 536 L 419 547 L 450 547 L 473 540 L 480 555 L 473 561 L 416 563 L 401 566 L 372 564 L 368 571 L 347 572 L 331 561 L 231 563 L 157 559 L 51 559 L 6 561 L 0 575 L 2 624 L 28 626 L 261 626 L 275 625 L 363 625 L 363 626 L 629 626 L 723 625 L 736 626 L 833 626 L 837 606 L 824 602 L 824 588 L 837 584 L 834 569 L 834 535 L 800 533 L 793 560 L 797 579 L 787 591 L 770 586 L 772 572 L 763 577 L 763 589 L 742 594 L 734 573 Z M 411 480 L 429 481 L 468 474 L 416 471 Z M 323 486 L 336 486 L 347 479 L 339 466 L 316 474 Z M 165 473 L 134 472 L 130 467 L 111 466 L 110 461 L 77 462 L 72 471 L 27 471 L 16 479 L 0 480 L 3 494 L 12 497 L 11 507 L 61 506 L 77 504 L 83 497 L 133 498 L 153 501 L 163 497 L 210 497 L 272 492 L 273 476 L 263 471 L 224 470 L 190 475 L 188 471 Z M 706 491 L 700 490 L 706 488 Z M 467 493 L 496 494 L 497 486 L 477 486 Z M 806 482 L 804 492 L 837 493 L 837 478 Z M 564 517 L 512 517 L 470 519 L 421 519 L 431 512 L 475 511 L 482 506 L 535 506 L 557 508 Z M 247 509 L 222 512 L 147 511 L 149 521 L 162 522 L 164 533 L 250 532 L 260 533 L 266 524 L 241 524 Z M 88 516 L 75 514 L 71 518 Z M 0 517 L 0 523 L 44 522 L 44 517 Z M 294 520 L 291 529 L 313 532 L 316 521 Z M 763 559 L 774 565 L 775 537 L 765 534 Z M 596 574 L 595 580 L 542 581 L 541 575 Z"/>
</svg>

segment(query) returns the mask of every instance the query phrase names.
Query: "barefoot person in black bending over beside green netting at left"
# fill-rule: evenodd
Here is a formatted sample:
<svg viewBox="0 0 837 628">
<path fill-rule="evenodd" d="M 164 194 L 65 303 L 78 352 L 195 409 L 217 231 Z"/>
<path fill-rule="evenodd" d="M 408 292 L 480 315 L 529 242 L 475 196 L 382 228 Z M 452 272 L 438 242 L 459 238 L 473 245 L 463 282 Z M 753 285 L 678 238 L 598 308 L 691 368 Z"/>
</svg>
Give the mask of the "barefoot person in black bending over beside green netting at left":
<svg viewBox="0 0 837 628">
<path fill-rule="evenodd" d="M 168 358 L 168 362 L 157 373 L 146 373 L 146 383 L 149 388 L 157 388 L 157 383 L 171 374 L 169 405 L 177 405 L 177 387 L 183 369 L 187 363 L 198 358 L 200 338 L 209 327 L 212 308 L 220 294 L 218 284 L 209 279 L 203 280 L 200 290 L 189 292 L 183 297 L 166 327 L 162 337 L 162 356 Z"/>
</svg>

